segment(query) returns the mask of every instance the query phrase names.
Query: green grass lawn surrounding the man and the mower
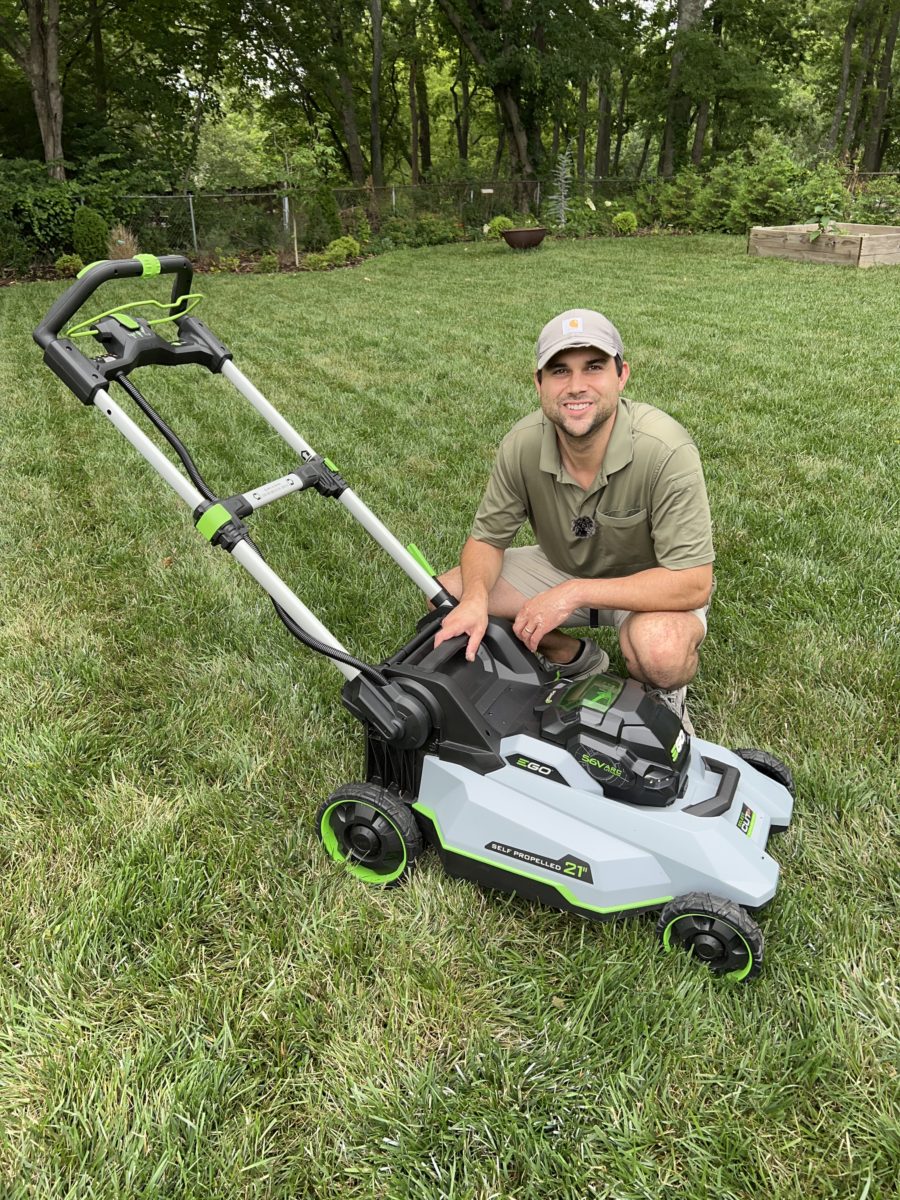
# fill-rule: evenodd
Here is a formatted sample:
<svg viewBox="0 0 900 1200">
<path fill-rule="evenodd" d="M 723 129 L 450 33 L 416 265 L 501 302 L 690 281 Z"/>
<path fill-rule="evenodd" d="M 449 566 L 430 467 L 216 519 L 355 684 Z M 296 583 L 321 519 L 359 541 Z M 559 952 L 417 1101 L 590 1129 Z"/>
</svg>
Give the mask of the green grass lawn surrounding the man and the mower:
<svg viewBox="0 0 900 1200">
<path fill-rule="evenodd" d="M 797 779 L 749 985 L 647 918 L 587 924 L 432 857 L 383 893 L 331 864 L 312 816 L 361 774 L 340 676 L 42 366 L 60 287 L 0 292 L 0 1194 L 896 1195 L 900 275 L 744 250 L 404 251 L 203 278 L 200 316 L 442 568 L 535 403 L 541 324 L 616 320 L 629 395 L 707 469 L 695 724 Z M 293 468 L 222 380 L 136 379 L 222 494 Z M 410 635 L 421 596 L 337 505 L 252 526 L 352 650 Z"/>
</svg>

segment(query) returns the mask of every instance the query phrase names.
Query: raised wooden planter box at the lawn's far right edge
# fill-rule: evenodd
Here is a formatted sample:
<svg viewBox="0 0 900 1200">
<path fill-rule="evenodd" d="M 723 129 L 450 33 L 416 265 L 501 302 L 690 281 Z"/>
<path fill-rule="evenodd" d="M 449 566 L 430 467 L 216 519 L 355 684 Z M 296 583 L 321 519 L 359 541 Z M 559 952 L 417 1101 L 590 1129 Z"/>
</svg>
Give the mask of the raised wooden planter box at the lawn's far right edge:
<svg viewBox="0 0 900 1200">
<path fill-rule="evenodd" d="M 755 226 L 746 245 L 748 254 L 758 258 L 797 258 L 808 263 L 838 263 L 840 266 L 881 266 L 900 263 L 900 226 L 860 226 L 835 222 L 834 233 L 822 233 L 815 241 L 815 223 L 803 226 Z"/>
</svg>

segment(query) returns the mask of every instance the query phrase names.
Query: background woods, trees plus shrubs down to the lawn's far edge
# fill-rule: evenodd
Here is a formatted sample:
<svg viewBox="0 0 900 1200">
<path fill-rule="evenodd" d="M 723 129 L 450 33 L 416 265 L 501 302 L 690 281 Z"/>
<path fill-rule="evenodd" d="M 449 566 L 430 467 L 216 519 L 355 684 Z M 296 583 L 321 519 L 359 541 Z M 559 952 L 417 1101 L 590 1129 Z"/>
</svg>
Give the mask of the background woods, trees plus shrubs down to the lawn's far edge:
<svg viewBox="0 0 900 1200">
<path fill-rule="evenodd" d="M 140 226 L 142 248 L 239 251 L 234 221 L 140 217 L 126 197 L 274 187 L 306 197 L 307 250 L 329 222 L 366 234 L 310 217 L 336 188 L 392 244 L 452 230 L 385 230 L 385 196 L 390 218 L 468 232 L 526 210 L 608 232 L 569 200 L 623 197 L 678 228 L 846 217 L 860 179 L 900 164 L 899 29 L 900 0 L 0 0 L 0 257 L 71 251 L 84 204 Z M 398 205 L 410 185 L 432 191 Z M 896 202 L 854 215 L 895 220 Z"/>
</svg>

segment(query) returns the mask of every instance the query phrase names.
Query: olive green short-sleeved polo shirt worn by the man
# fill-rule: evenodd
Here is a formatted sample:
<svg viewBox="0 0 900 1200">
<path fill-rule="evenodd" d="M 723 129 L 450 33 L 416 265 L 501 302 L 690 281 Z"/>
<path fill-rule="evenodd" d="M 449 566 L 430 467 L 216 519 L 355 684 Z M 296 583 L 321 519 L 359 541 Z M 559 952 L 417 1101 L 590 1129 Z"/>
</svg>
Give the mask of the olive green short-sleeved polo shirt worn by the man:
<svg viewBox="0 0 900 1200">
<path fill-rule="evenodd" d="M 576 538 L 572 522 L 593 533 Z M 500 443 L 472 536 L 505 550 L 528 521 L 550 562 L 578 578 L 712 563 L 703 468 L 688 432 L 666 413 L 619 398 L 596 478 L 584 491 L 559 457 L 556 426 L 529 413 Z"/>
</svg>

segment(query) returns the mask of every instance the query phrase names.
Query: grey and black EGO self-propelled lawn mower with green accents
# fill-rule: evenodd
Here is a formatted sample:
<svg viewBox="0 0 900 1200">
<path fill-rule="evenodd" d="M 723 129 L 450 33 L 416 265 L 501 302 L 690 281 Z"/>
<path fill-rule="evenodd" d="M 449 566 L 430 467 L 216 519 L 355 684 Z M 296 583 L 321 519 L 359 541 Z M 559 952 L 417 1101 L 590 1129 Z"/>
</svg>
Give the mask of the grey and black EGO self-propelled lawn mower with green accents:
<svg viewBox="0 0 900 1200">
<path fill-rule="evenodd" d="M 138 300 L 70 324 L 113 280 L 173 274 L 172 301 Z M 199 533 L 269 593 L 287 629 L 344 677 L 342 700 L 365 732 L 365 780 L 338 787 L 316 822 L 325 852 L 366 884 L 400 883 L 425 845 L 455 877 L 590 919 L 660 912 L 666 949 L 744 980 L 762 965 L 751 913 L 775 894 L 769 834 L 791 820 L 788 768 L 757 749 L 727 750 L 682 727 L 641 684 L 614 674 L 554 676 L 491 619 L 475 660 L 466 636 L 434 648 L 456 602 L 414 545 L 404 547 L 235 367 L 190 314 L 198 296 L 180 256 L 92 264 L 35 330 L 44 362 L 127 438 L 190 506 Z M 137 314 L 154 305 L 162 316 Z M 167 338 L 157 325 L 173 322 Z M 92 338 L 92 353 L 80 346 Z M 80 344 L 79 344 L 80 343 Z M 295 466 L 248 492 L 214 494 L 176 434 L 128 378 L 198 364 L 222 374 L 281 434 Z M 187 473 L 110 395 L 118 385 Z M 377 666 L 354 658 L 265 563 L 246 518 L 295 492 L 337 500 L 430 601 L 415 635 Z"/>
</svg>

